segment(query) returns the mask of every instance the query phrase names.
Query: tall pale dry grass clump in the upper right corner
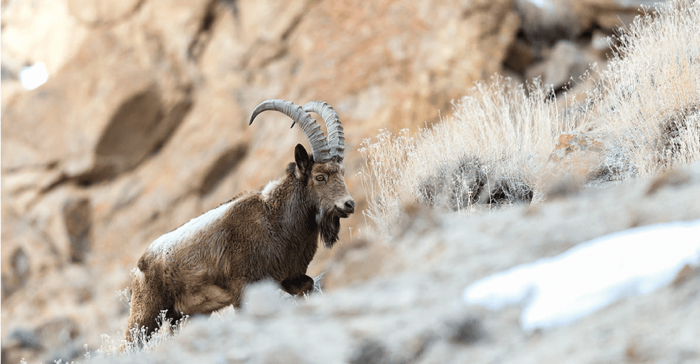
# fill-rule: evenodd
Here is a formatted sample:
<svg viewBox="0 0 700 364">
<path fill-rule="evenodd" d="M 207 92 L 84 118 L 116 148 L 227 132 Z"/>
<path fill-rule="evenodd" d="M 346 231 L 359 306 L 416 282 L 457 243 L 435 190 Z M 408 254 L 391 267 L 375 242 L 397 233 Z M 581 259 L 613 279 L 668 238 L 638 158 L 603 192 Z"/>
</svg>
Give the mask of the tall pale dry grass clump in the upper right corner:
<svg viewBox="0 0 700 364">
<path fill-rule="evenodd" d="M 639 175 L 700 159 L 700 2 L 637 18 L 601 76 L 594 118 Z"/>
</svg>

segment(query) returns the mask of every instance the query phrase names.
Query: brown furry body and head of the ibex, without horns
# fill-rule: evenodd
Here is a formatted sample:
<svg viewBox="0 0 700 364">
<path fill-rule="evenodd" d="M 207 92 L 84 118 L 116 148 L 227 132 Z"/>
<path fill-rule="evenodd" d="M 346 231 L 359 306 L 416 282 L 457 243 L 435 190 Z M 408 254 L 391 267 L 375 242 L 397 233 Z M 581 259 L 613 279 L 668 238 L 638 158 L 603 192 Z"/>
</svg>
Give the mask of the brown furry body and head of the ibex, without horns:
<svg viewBox="0 0 700 364">
<path fill-rule="evenodd" d="M 246 284 L 262 279 L 293 295 L 309 292 L 314 281 L 306 270 L 319 234 L 332 247 L 339 218 L 354 212 L 343 174 L 342 162 L 314 163 L 299 144 L 277 186 L 241 195 L 221 218 L 171 248 L 147 250 L 134 274 L 126 339 L 134 327 L 155 330 L 161 310 L 178 319 L 239 307 Z"/>
</svg>

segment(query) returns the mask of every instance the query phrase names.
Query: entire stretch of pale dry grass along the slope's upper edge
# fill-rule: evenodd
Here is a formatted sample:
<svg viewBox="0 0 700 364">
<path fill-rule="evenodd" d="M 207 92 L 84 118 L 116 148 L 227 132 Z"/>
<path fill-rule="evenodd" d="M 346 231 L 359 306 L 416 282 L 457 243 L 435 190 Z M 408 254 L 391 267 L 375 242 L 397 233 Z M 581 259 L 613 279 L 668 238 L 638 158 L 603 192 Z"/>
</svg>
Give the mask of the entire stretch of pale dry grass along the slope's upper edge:
<svg viewBox="0 0 700 364">
<path fill-rule="evenodd" d="M 699 24 L 700 3 L 692 0 L 668 1 L 636 19 L 589 97 L 565 110 L 537 81 L 513 85 L 496 76 L 477 83 L 432 129 L 414 137 L 381 131 L 363 141 L 365 214 L 391 233 L 405 204 L 469 211 L 493 206 L 498 188 L 506 202 L 528 201 L 559 134 L 589 120 L 608 136 L 608 157 L 634 172 L 626 176 L 700 160 Z M 537 200 L 540 192 L 529 193 Z"/>
</svg>

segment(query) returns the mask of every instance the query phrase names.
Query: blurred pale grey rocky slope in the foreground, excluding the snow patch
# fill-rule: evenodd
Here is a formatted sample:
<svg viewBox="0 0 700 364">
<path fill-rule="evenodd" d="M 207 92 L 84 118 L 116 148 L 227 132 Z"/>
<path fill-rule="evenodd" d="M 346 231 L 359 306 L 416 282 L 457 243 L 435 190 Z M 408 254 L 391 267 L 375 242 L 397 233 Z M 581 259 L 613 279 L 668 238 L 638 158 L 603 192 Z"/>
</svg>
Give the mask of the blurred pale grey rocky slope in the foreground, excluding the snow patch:
<svg viewBox="0 0 700 364">
<path fill-rule="evenodd" d="M 699 198 L 696 163 L 537 206 L 470 216 L 409 207 L 403 235 L 346 247 L 328 274 L 353 281 L 347 288 L 290 302 L 262 283 L 249 288 L 240 311 L 193 318 L 155 351 L 97 362 L 697 363 L 700 267 L 547 330 L 523 330 L 522 307 L 489 311 L 465 304 L 462 293 L 485 276 L 594 237 L 698 219 Z"/>
</svg>

